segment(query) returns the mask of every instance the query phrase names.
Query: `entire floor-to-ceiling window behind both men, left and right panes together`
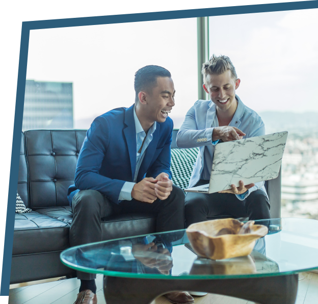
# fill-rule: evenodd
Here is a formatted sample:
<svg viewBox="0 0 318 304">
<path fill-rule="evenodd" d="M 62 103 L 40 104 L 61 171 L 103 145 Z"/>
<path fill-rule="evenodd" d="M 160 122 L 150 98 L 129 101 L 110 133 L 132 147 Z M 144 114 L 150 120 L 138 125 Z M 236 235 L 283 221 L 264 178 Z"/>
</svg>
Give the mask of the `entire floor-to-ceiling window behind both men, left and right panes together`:
<svg viewBox="0 0 318 304">
<path fill-rule="evenodd" d="M 236 91 L 266 132 L 289 132 L 282 216 L 318 218 L 318 9 L 209 17 L 209 56 L 227 55 Z M 134 103 L 134 74 L 148 64 L 172 74 L 179 128 L 198 98 L 197 18 L 32 30 L 23 130 L 88 129 Z"/>
</svg>

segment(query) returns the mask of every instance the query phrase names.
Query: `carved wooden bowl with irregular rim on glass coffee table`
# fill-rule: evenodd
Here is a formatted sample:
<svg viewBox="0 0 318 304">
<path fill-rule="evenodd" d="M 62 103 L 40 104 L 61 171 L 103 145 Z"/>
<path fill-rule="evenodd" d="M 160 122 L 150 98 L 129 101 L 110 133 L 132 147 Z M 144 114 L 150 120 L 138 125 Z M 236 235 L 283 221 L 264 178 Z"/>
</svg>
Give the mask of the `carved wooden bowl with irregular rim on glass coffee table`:
<svg viewBox="0 0 318 304">
<path fill-rule="evenodd" d="M 191 224 L 186 232 L 198 256 L 223 260 L 248 256 L 255 241 L 267 235 L 268 227 L 225 218 Z"/>
</svg>

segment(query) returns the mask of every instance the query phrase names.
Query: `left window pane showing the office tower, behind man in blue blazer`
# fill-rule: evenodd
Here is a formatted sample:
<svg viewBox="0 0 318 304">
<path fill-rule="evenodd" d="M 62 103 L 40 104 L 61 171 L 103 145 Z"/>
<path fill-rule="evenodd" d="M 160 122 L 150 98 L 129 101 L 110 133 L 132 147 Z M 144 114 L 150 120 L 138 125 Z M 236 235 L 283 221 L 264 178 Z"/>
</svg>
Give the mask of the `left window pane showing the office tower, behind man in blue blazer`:
<svg viewBox="0 0 318 304">
<path fill-rule="evenodd" d="M 196 18 L 32 30 L 22 129 L 88 129 L 134 103 L 134 74 L 152 64 L 172 74 L 179 128 L 198 96 Z"/>
</svg>

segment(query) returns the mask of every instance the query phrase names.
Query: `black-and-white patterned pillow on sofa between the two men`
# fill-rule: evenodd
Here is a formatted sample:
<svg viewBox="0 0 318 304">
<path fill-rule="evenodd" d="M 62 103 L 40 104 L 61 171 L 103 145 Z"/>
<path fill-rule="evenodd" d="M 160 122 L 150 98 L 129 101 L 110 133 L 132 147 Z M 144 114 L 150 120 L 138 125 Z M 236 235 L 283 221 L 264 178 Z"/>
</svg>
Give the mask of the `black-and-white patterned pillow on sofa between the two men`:
<svg viewBox="0 0 318 304">
<path fill-rule="evenodd" d="M 193 165 L 197 159 L 199 148 L 171 149 L 172 183 L 181 189 L 189 185 Z"/>
</svg>

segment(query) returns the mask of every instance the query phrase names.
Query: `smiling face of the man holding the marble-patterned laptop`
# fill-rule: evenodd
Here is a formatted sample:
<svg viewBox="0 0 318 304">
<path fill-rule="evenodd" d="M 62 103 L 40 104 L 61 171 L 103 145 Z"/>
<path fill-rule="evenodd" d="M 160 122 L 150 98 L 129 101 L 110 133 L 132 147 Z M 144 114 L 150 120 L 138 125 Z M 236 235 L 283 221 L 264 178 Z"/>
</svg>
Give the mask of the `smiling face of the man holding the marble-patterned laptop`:
<svg viewBox="0 0 318 304">
<path fill-rule="evenodd" d="M 216 104 L 217 111 L 234 115 L 237 107 L 235 90 L 239 87 L 241 80 L 234 80 L 231 71 L 226 70 L 220 75 L 206 75 L 205 82 L 203 88 Z"/>
</svg>

